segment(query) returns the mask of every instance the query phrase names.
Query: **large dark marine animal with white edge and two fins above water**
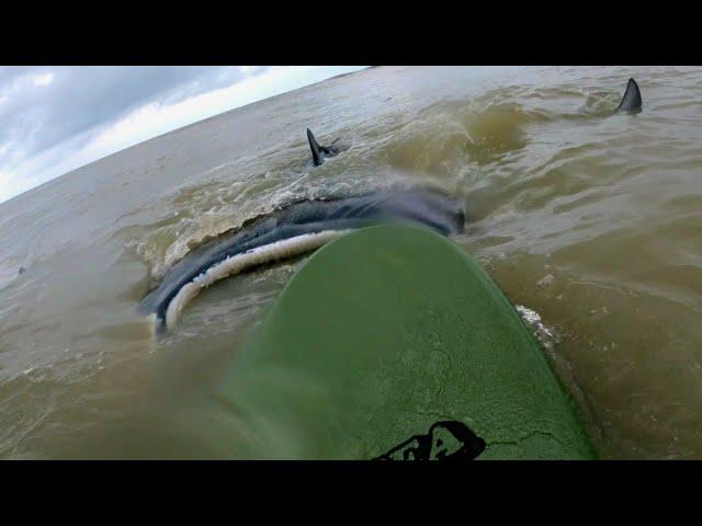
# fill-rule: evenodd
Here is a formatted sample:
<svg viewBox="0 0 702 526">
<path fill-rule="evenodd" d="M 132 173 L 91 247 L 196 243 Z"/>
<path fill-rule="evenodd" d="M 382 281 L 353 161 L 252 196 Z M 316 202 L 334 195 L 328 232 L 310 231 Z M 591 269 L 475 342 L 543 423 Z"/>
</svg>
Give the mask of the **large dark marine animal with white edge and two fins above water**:
<svg viewBox="0 0 702 526">
<path fill-rule="evenodd" d="M 630 79 L 615 113 L 641 108 L 641 91 Z M 341 151 L 333 142 L 320 146 L 309 129 L 307 140 L 315 167 Z M 465 213 L 458 199 L 428 187 L 290 203 L 189 253 L 138 308 L 155 316 L 158 332 L 165 332 L 176 325 L 190 300 L 219 279 L 310 252 L 351 230 L 398 221 L 424 225 L 449 236 L 463 231 Z"/>
</svg>

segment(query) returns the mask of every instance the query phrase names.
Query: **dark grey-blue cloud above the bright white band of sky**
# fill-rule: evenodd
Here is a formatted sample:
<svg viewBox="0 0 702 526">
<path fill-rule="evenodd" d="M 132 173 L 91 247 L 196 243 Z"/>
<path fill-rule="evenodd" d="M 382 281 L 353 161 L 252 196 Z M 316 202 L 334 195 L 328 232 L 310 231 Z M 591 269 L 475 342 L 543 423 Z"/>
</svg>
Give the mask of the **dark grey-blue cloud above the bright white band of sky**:
<svg viewBox="0 0 702 526">
<path fill-rule="evenodd" d="M 0 68 L 0 165 L 109 125 L 143 104 L 174 103 L 244 77 L 238 67 Z"/>
</svg>

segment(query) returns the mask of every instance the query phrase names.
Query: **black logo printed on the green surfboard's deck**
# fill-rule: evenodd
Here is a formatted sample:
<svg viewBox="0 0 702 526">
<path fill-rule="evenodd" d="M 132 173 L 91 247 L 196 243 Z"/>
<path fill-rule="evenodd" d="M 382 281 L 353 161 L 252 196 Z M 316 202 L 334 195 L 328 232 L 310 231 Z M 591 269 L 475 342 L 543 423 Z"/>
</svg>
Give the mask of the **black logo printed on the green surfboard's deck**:
<svg viewBox="0 0 702 526">
<path fill-rule="evenodd" d="M 437 422 L 426 435 L 415 435 L 374 460 L 473 460 L 485 441 L 463 422 Z"/>
</svg>

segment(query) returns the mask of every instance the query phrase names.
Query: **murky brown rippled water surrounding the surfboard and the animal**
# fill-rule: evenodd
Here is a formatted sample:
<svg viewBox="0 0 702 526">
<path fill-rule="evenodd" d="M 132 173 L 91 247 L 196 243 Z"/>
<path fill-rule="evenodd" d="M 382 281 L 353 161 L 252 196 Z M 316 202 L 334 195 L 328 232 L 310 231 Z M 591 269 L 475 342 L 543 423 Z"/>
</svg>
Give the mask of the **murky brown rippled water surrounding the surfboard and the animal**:
<svg viewBox="0 0 702 526">
<path fill-rule="evenodd" d="M 630 76 L 644 111 L 612 115 Z M 306 127 L 349 149 L 309 171 Z M 701 171 L 702 69 L 677 67 L 375 68 L 103 159 L 0 205 L 0 458 L 202 455 L 160 415 L 302 261 L 220 282 L 161 342 L 138 300 L 248 217 L 401 181 L 465 193 L 456 241 L 553 332 L 603 457 L 701 458 Z"/>
</svg>

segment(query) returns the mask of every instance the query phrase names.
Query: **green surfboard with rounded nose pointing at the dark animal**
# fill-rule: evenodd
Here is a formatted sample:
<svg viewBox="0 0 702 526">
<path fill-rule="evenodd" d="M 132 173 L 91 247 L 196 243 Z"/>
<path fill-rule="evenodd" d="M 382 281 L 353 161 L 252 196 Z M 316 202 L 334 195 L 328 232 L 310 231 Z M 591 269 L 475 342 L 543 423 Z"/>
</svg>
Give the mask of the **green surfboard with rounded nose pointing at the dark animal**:
<svg viewBox="0 0 702 526">
<path fill-rule="evenodd" d="M 212 399 L 195 420 L 215 456 L 595 457 L 510 301 L 421 227 L 366 228 L 315 253 Z"/>
</svg>

